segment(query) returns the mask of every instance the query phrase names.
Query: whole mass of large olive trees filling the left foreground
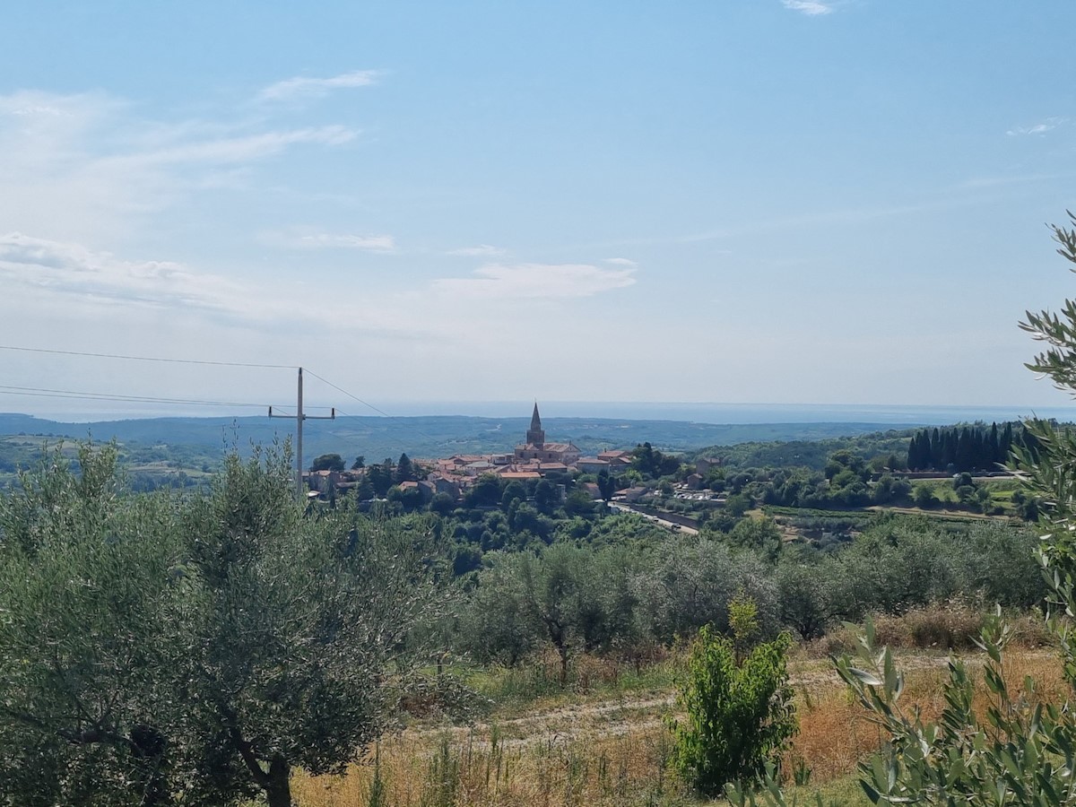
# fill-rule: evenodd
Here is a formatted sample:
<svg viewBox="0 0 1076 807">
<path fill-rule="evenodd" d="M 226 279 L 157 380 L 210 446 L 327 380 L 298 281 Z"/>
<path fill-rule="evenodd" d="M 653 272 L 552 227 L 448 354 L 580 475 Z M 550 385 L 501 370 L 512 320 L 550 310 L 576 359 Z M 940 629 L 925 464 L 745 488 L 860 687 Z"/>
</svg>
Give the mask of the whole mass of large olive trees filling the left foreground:
<svg viewBox="0 0 1076 807">
<path fill-rule="evenodd" d="M 80 465 L 0 504 L 9 803 L 286 807 L 294 767 L 378 736 L 436 599 L 423 534 L 306 514 L 286 451 L 183 500 L 124 495 L 113 449 Z"/>
</svg>

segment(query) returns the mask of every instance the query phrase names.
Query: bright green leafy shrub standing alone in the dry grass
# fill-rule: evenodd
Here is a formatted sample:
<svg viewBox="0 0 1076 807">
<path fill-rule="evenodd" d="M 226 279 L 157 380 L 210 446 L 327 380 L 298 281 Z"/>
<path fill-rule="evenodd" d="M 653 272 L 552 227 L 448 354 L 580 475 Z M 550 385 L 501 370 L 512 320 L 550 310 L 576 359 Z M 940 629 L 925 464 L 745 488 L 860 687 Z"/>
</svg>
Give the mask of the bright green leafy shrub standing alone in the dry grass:
<svg viewBox="0 0 1076 807">
<path fill-rule="evenodd" d="M 781 634 L 737 664 L 730 639 L 699 631 L 679 697 L 688 717 L 672 724 L 674 767 L 698 792 L 714 796 L 727 782 L 760 776 L 788 747 L 796 732 L 785 666 L 791 643 Z"/>
</svg>

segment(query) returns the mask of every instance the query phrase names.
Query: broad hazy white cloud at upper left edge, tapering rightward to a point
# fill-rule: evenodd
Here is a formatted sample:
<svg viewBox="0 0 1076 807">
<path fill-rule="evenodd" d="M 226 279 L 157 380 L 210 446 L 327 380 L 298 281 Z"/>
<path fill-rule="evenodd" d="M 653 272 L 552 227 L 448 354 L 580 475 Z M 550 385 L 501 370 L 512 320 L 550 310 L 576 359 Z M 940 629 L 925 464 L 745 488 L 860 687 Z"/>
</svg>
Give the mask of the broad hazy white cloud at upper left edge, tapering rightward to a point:
<svg viewBox="0 0 1076 807">
<path fill-rule="evenodd" d="M 206 188 L 249 186 L 258 162 L 356 136 L 344 126 L 270 128 L 260 118 L 140 118 L 100 93 L 0 95 L 0 222 L 103 245 Z"/>
</svg>

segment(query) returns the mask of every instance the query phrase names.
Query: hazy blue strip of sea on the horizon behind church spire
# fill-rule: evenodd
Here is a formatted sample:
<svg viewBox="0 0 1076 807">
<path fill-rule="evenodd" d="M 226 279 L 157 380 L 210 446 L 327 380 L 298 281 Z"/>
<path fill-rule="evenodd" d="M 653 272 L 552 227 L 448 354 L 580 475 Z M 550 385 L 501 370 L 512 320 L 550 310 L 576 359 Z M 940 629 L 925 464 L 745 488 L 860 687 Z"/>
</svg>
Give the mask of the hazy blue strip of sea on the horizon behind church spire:
<svg viewBox="0 0 1076 807">
<path fill-rule="evenodd" d="M 413 415 L 471 415 L 521 417 L 534 401 L 386 402 L 386 413 Z M 683 421 L 692 423 L 878 423 L 893 426 L 945 425 L 985 421 L 1015 421 L 1036 415 L 1076 420 L 1073 407 L 1030 406 L 911 406 L 884 404 L 625 404 L 618 401 L 538 401 L 542 417 L 611 417 Z M 355 412 L 372 414 L 372 412 Z"/>
</svg>

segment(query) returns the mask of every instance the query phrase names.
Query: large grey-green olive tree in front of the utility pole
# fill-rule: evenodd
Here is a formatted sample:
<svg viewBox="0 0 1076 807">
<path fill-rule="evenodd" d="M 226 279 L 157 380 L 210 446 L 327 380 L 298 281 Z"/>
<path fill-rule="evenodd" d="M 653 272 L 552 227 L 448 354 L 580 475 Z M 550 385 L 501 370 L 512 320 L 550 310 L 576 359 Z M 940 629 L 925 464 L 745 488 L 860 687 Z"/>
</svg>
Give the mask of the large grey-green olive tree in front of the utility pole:
<svg viewBox="0 0 1076 807">
<path fill-rule="evenodd" d="M 306 516 L 288 466 L 286 453 L 231 457 L 183 519 L 201 583 L 206 727 L 270 807 L 291 803 L 293 766 L 342 773 L 378 736 L 387 672 L 408 666 L 408 635 L 434 597 L 423 536 L 398 521 Z"/>
</svg>

